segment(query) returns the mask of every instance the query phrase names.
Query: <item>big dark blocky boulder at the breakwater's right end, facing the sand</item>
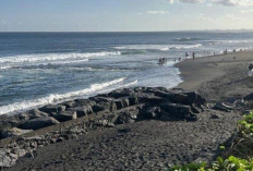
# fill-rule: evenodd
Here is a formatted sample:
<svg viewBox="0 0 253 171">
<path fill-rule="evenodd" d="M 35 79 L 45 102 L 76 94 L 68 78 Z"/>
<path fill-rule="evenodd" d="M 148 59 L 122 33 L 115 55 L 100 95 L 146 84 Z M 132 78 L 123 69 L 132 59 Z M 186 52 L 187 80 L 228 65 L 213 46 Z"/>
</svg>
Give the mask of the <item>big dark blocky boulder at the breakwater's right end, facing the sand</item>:
<svg viewBox="0 0 253 171">
<path fill-rule="evenodd" d="M 162 118 L 168 120 L 197 120 L 196 114 L 191 111 L 190 106 L 180 103 L 162 103 L 160 108 L 165 111 L 161 112 Z"/>
</svg>

